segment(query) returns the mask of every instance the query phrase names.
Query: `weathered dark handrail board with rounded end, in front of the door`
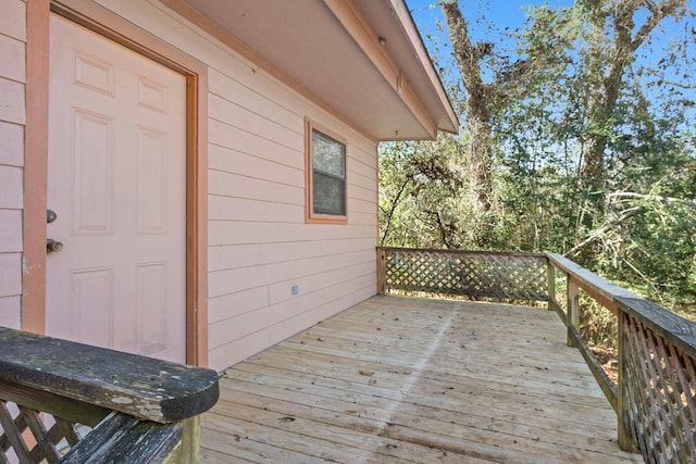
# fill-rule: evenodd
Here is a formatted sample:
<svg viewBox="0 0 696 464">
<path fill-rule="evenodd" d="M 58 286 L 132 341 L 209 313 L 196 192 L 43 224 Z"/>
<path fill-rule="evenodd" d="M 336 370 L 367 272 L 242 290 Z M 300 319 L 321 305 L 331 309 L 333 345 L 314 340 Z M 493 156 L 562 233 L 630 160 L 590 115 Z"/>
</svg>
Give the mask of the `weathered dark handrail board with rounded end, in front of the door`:
<svg viewBox="0 0 696 464">
<path fill-rule="evenodd" d="M 217 401 L 208 368 L 0 327 L 0 380 L 161 424 Z"/>
</svg>

